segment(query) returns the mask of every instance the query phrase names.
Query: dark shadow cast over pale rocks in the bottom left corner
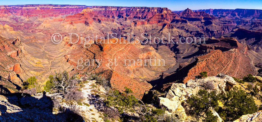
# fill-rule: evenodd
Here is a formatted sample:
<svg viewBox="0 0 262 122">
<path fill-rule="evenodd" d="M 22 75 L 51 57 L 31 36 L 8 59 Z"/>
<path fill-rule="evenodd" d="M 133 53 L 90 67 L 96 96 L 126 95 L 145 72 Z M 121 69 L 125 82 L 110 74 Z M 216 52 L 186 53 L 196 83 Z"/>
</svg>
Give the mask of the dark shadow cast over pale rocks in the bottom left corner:
<svg viewBox="0 0 262 122">
<path fill-rule="evenodd" d="M 7 112 L 7 107 L 0 101 L 0 120 L 4 122 L 83 122 L 84 119 L 77 113 L 66 108 L 63 112 L 53 114 L 54 103 L 52 98 L 43 93 L 40 99 L 34 98 L 29 94 L 12 93 L 4 95 L 8 102 L 17 105 L 22 109 L 19 112 Z"/>
</svg>

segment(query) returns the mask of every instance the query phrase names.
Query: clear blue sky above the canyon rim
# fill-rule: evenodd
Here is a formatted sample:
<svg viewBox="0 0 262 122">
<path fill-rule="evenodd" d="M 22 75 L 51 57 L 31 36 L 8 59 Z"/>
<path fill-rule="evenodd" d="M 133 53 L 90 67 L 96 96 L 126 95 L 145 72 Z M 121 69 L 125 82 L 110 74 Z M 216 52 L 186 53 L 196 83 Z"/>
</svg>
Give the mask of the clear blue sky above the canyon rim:
<svg viewBox="0 0 262 122">
<path fill-rule="evenodd" d="M 70 4 L 87 6 L 167 7 L 170 10 L 197 9 L 262 9 L 262 0 L 0 0 L 1 5 Z"/>
</svg>

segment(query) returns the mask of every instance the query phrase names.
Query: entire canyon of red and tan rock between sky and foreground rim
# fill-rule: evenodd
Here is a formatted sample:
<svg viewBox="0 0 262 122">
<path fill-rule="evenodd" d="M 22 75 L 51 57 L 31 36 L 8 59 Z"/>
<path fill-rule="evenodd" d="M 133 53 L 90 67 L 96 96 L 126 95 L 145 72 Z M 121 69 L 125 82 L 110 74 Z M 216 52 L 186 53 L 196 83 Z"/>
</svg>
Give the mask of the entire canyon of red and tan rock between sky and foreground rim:
<svg viewBox="0 0 262 122">
<path fill-rule="evenodd" d="M 1 85 L 13 93 L 23 81 L 36 76 L 37 90 L 42 91 L 49 75 L 66 70 L 70 75 L 99 74 L 110 80 L 113 88 L 124 91 L 128 86 L 142 98 L 150 89 L 186 83 L 202 71 L 208 76 L 224 73 L 236 78 L 261 74 L 261 15 L 261 10 L 248 9 L 172 12 L 160 7 L 1 5 Z M 51 41 L 54 33 L 62 35 L 61 43 Z M 147 38 L 170 35 L 175 40 L 204 37 L 206 44 L 92 43 L 86 48 L 80 42 L 69 43 L 68 33 L 104 38 L 107 33 L 133 33 L 134 38 L 142 33 L 148 34 L 144 35 Z M 144 61 L 150 57 L 164 59 L 165 66 L 123 65 L 124 59 Z M 95 63 L 78 70 L 80 58 L 104 61 L 99 67 Z M 119 65 L 108 65 L 110 59 L 117 59 Z"/>
</svg>

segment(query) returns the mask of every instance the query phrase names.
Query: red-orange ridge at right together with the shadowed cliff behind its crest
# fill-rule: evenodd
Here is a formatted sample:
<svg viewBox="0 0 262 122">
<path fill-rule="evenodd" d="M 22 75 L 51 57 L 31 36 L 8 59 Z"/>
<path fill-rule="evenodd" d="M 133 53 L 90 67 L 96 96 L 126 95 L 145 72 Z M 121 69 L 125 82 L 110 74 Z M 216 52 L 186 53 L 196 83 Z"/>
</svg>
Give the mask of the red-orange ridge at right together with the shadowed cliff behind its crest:
<svg viewBox="0 0 262 122">
<path fill-rule="evenodd" d="M 203 71 L 207 71 L 208 76 L 223 73 L 236 78 L 243 78 L 249 73 L 257 74 L 249 58 L 249 54 L 254 52 L 248 46 L 230 37 L 210 41 L 215 43 L 201 44 L 200 47 L 204 50 L 211 49 L 211 52 L 197 57 L 197 63 L 188 71 L 187 77 L 183 80 L 184 83 L 189 79 L 194 79 L 196 74 Z"/>
</svg>

